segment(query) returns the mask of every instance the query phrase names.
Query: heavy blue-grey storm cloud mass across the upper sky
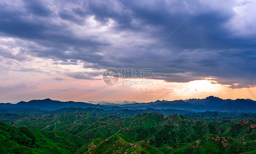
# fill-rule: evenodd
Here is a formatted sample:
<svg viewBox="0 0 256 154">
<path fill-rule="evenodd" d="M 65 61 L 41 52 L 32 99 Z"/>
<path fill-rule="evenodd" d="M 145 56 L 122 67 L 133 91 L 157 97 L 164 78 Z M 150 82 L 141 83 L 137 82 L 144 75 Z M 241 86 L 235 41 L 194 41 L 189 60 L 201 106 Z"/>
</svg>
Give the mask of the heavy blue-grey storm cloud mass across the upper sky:
<svg viewBox="0 0 256 154">
<path fill-rule="evenodd" d="M 89 0 L 59 4 L 23 1 L 21 4 L 0 4 L 0 34 L 33 41 L 42 47 L 27 45 L 26 54 L 51 58 L 61 65 L 77 65 L 77 60 L 82 60 L 90 64 L 84 67 L 94 69 L 154 68 L 156 79 L 168 82 L 214 77 L 221 84 L 230 84 L 230 88 L 256 84 L 256 38 L 234 35 L 225 26 L 235 15 L 231 5 L 221 10 L 221 5 L 226 4 L 212 8 L 200 1 Z M 89 36 L 114 63 L 72 23 L 86 27 L 82 30 L 87 34 L 90 28 L 85 19 L 91 16 L 97 26 L 107 26 L 110 20 L 116 22 L 106 34 Z M 179 29 L 154 51 L 186 17 Z M 74 28 L 84 37 L 77 37 Z M 127 41 L 118 43 L 120 39 L 113 35 Z M 147 42 L 150 39 L 155 41 Z M 66 75 L 94 79 L 93 75 L 99 74 Z"/>
</svg>

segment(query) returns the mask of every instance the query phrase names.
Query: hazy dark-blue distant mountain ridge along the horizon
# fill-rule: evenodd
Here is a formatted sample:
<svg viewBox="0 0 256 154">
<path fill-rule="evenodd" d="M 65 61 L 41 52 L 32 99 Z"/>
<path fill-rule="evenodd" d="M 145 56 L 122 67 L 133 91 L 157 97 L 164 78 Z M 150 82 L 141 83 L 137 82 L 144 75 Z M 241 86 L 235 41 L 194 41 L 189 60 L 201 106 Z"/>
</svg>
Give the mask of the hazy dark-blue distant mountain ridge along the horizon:
<svg viewBox="0 0 256 154">
<path fill-rule="evenodd" d="M 110 104 L 103 102 L 102 104 L 90 104 L 84 102 L 42 99 L 31 100 L 28 102 L 20 101 L 17 104 L 0 103 L 0 108 L 20 107 L 20 108 L 36 108 L 43 110 L 56 110 L 62 108 L 98 108 L 104 110 L 119 109 L 182 109 L 192 110 L 196 112 L 204 111 L 222 111 L 222 112 L 256 112 L 256 101 L 251 99 L 220 99 L 218 97 L 209 96 L 205 99 L 187 99 L 187 100 L 157 100 L 149 103 L 133 103 L 127 104 Z"/>
</svg>

